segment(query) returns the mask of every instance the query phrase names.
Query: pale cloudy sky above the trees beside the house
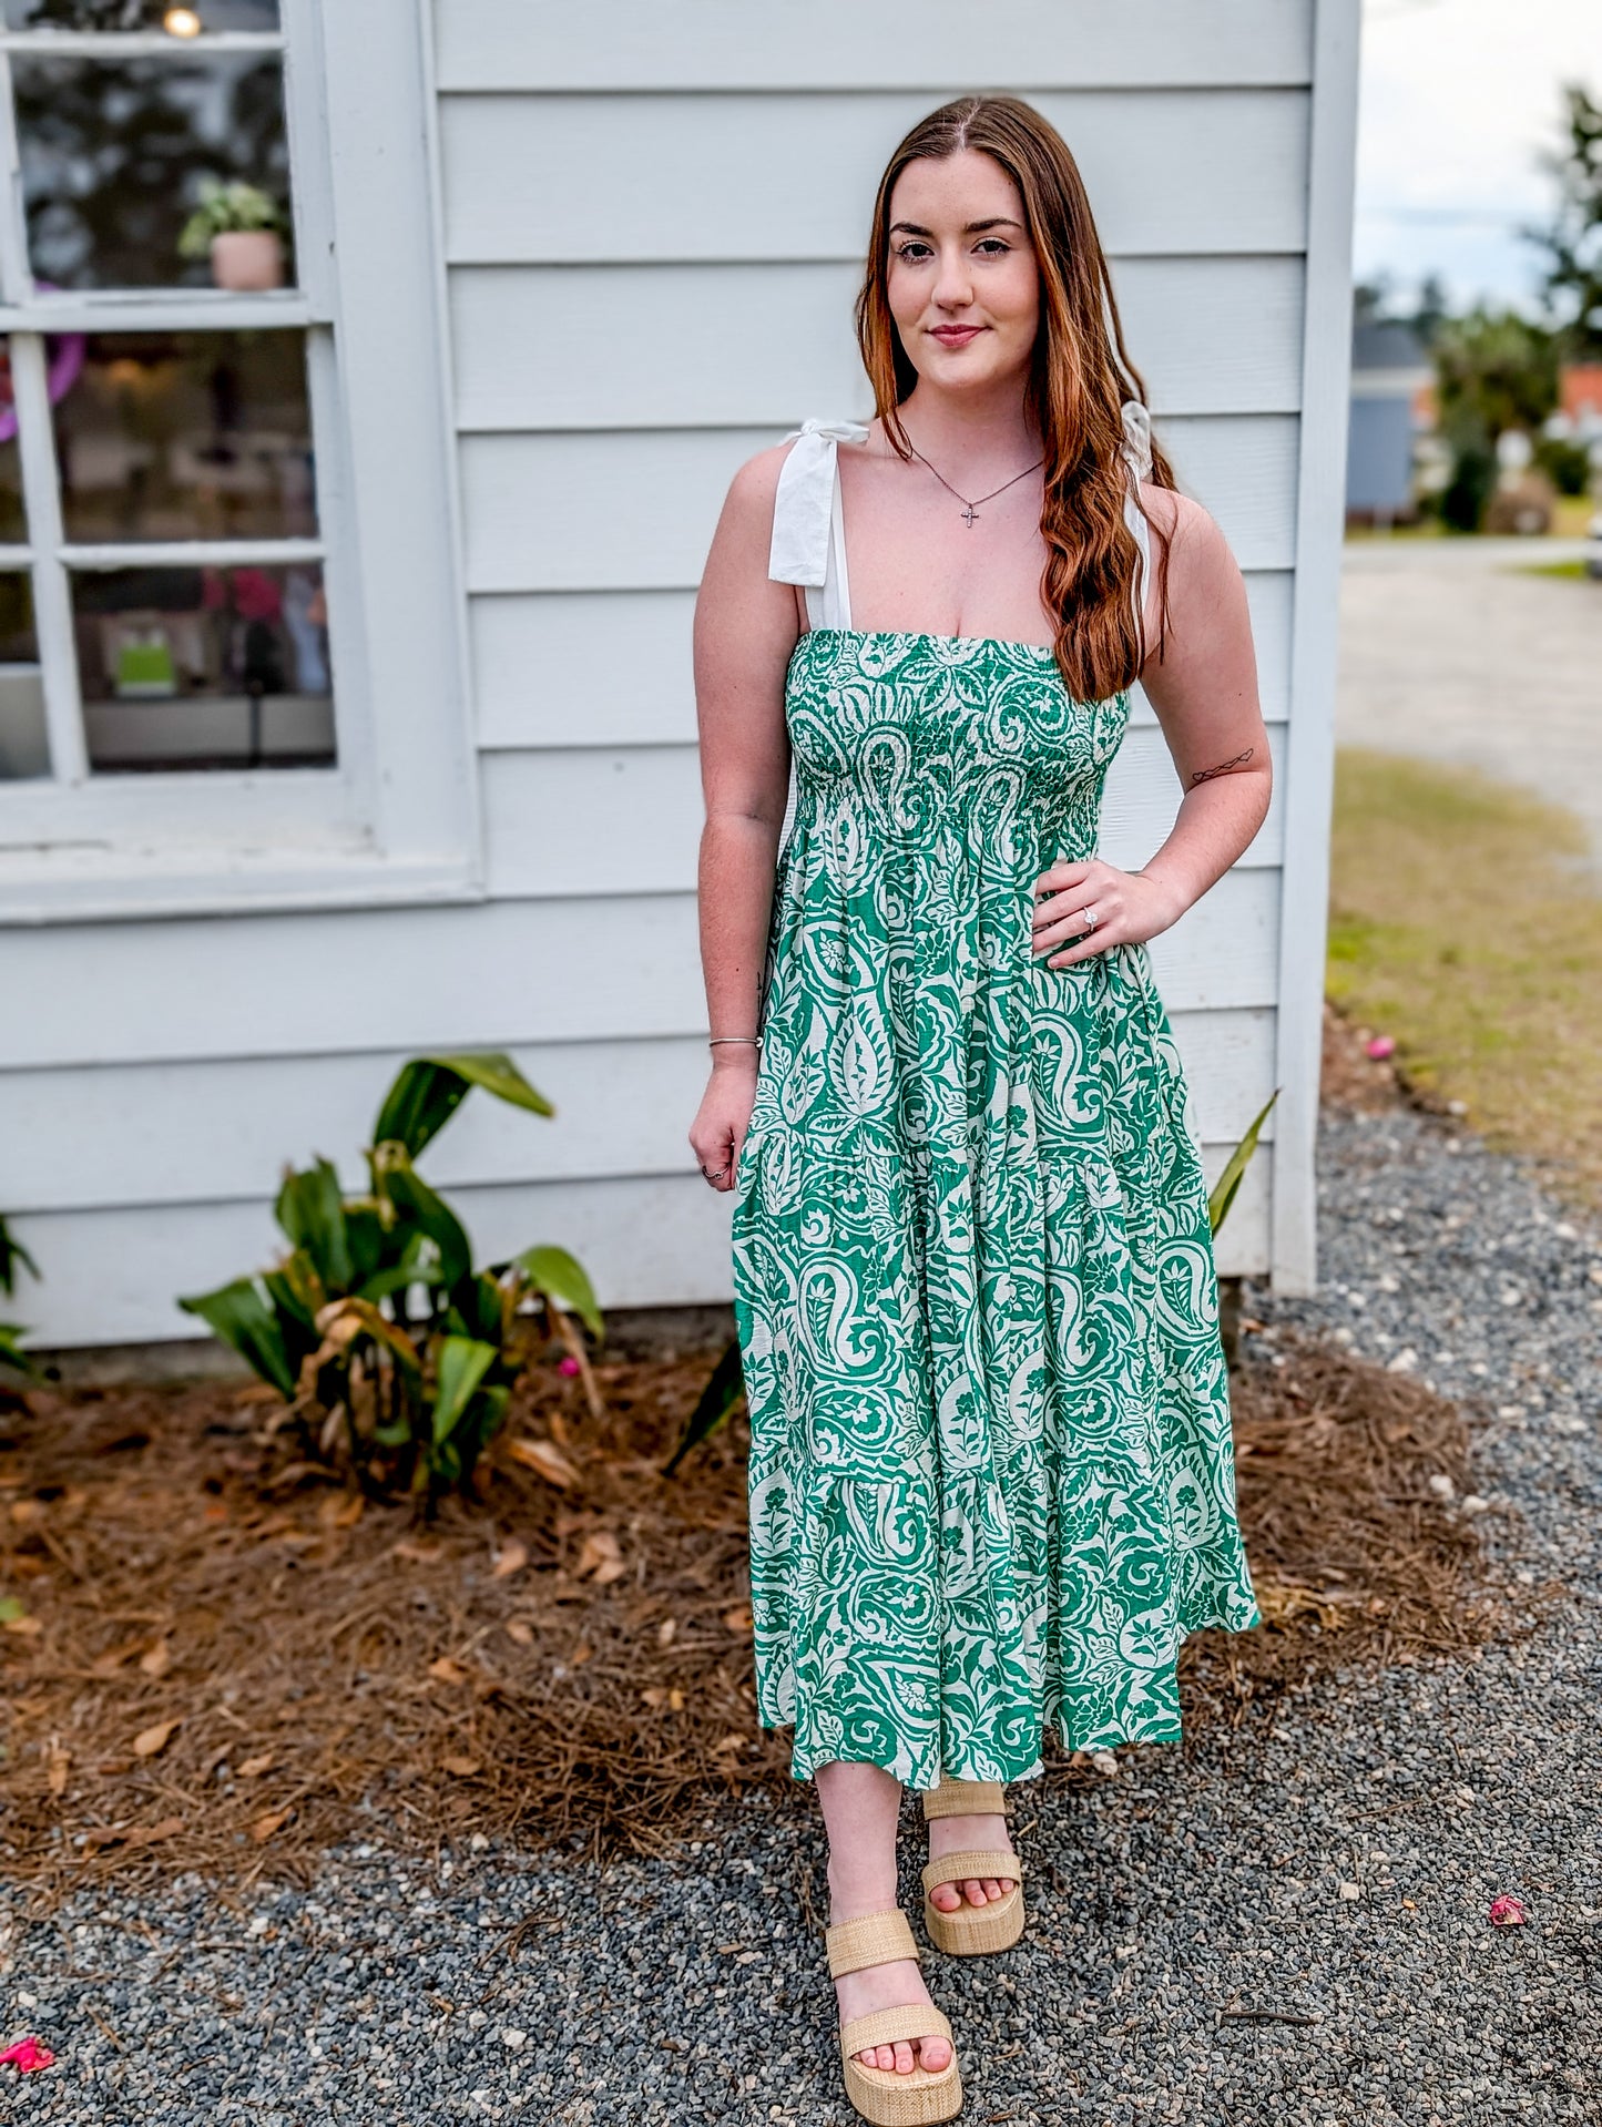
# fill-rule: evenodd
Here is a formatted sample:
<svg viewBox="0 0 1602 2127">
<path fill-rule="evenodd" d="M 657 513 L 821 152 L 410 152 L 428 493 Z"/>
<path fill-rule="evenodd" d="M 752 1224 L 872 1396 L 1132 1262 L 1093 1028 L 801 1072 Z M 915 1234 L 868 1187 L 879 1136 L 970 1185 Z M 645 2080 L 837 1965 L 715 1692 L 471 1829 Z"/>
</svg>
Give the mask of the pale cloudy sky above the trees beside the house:
<svg viewBox="0 0 1602 2127">
<path fill-rule="evenodd" d="M 1602 0 L 1364 0 L 1357 279 L 1534 308 L 1564 81 L 1602 102 Z"/>
</svg>

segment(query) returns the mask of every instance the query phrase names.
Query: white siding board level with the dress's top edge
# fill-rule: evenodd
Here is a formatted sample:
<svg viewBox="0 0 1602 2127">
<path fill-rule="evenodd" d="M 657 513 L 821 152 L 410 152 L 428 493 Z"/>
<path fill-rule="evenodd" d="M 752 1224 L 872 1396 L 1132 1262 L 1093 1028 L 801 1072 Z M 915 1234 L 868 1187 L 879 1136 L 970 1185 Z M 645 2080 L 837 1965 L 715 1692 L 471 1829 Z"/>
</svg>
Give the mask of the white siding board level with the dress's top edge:
<svg viewBox="0 0 1602 2127">
<path fill-rule="evenodd" d="M 1289 570 L 1247 576 L 1264 717 L 1289 715 Z M 694 591 L 543 591 L 470 604 L 479 744 L 660 747 L 696 736 Z M 628 657 L 598 655 L 625 642 Z M 643 683 L 640 674 L 649 674 Z M 1151 721 L 1136 689 L 1134 721 Z"/>
</svg>

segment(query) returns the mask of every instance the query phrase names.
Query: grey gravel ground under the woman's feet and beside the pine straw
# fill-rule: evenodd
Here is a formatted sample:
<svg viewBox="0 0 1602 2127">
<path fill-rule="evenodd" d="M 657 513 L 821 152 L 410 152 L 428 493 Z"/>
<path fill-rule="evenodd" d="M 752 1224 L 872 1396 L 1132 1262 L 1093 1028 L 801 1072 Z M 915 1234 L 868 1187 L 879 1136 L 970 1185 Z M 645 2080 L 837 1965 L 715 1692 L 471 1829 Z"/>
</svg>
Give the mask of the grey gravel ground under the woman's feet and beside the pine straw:
<svg viewBox="0 0 1602 2127">
<path fill-rule="evenodd" d="M 1440 1123 L 1330 1119 L 1323 1278 L 1251 1295 L 1270 1349 L 1317 1329 L 1479 1400 L 1487 1536 L 1568 1593 L 1474 1663 L 1336 1676 L 1089 1795 L 1019 1791 L 1025 1942 L 928 1961 L 974 2123 L 1602 2118 L 1602 1236 Z M 706 1829 L 602 1874 L 355 1846 L 308 1893 L 13 1908 L 0 2042 L 57 2065 L 0 2070 L 0 2116 L 845 2123 L 811 1797 Z M 1530 1925 L 1489 1927 L 1502 1891 Z"/>
</svg>

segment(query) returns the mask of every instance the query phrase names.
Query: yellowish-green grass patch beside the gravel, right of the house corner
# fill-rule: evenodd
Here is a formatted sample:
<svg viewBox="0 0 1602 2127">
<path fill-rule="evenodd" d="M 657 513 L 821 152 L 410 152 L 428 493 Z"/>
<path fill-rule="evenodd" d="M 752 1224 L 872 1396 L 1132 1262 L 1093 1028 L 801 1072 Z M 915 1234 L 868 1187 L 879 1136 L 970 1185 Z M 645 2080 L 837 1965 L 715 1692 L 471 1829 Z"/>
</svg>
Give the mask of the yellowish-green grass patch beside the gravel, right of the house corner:
<svg viewBox="0 0 1602 2127">
<path fill-rule="evenodd" d="M 1602 895 L 1585 827 L 1472 770 L 1336 761 L 1330 998 L 1406 1083 L 1602 1206 Z"/>
</svg>

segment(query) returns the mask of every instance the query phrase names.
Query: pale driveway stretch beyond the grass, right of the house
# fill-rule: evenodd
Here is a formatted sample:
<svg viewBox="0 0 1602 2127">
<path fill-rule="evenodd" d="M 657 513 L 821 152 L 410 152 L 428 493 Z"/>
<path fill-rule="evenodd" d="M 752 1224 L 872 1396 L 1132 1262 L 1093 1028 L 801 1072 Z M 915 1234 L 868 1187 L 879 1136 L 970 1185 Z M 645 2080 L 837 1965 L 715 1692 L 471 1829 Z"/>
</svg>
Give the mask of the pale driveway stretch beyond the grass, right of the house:
<svg viewBox="0 0 1602 2127">
<path fill-rule="evenodd" d="M 1579 813 L 1602 864 L 1602 583 L 1574 540 L 1351 540 L 1336 738 L 1483 768 Z"/>
</svg>

